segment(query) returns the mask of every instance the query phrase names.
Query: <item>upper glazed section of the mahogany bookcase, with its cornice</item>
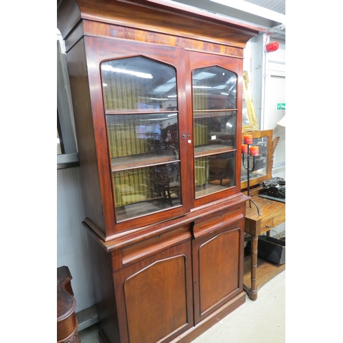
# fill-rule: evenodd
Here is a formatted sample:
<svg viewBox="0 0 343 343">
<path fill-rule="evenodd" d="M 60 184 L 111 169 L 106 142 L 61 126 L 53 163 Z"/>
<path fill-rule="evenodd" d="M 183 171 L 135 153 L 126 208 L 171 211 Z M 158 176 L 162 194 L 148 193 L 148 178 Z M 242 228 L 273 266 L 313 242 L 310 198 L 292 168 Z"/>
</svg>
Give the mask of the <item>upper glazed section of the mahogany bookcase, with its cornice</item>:
<svg viewBox="0 0 343 343">
<path fill-rule="evenodd" d="M 257 28 L 170 3 L 60 6 L 88 220 L 105 240 L 240 192 L 242 47 Z"/>
</svg>

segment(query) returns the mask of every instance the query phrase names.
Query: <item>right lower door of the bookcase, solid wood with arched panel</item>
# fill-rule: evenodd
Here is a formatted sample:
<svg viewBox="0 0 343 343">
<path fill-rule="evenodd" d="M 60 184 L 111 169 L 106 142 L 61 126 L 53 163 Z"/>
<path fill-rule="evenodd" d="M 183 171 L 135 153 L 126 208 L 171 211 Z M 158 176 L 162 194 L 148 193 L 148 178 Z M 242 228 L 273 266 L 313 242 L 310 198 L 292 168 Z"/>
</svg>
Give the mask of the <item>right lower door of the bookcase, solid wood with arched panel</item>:
<svg viewBox="0 0 343 343">
<path fill-rule="evenodd" d="M 244 217 L 222 212 L 194 225 L 193 289 L 195 324 L 243 291 Z"/>
</svg>

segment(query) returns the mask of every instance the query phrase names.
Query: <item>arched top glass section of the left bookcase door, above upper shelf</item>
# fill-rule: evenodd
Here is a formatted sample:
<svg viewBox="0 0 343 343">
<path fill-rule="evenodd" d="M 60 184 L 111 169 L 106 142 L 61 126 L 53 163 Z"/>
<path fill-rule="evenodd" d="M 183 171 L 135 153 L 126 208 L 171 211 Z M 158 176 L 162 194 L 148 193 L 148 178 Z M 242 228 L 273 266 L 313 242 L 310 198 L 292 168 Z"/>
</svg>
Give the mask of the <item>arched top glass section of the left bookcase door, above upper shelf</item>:
<svg viewBox="0 0 343 343">
<path fill-rule="evenodd" d="M 141 56 L 102 63 L 106 110 L 177 110 L 176 71 Z"/>
</svg>

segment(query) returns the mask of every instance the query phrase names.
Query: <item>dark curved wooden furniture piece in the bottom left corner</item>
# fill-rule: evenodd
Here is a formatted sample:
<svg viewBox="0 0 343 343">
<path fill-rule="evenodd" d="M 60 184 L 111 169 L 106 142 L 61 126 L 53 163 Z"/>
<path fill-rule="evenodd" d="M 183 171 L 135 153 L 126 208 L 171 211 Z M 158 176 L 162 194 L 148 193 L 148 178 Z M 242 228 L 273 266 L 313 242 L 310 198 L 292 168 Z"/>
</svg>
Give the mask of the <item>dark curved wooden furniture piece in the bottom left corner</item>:
<svg viewBox="0 0 343 343">
<path fill-rule="evenodd" d="M 81 343 L 69 268 L 57 268 L 57 343 Z"/>
</svg>

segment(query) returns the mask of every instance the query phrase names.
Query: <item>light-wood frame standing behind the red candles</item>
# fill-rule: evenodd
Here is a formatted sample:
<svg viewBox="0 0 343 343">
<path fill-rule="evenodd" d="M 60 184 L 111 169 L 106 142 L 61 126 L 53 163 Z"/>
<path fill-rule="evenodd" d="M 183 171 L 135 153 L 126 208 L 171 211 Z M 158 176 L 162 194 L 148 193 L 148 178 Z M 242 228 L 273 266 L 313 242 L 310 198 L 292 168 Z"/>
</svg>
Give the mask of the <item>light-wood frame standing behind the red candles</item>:
<svg viewBox="0 0 343 343">
<path fill-rule="evenodd" d="M 252 135 L 252 145 L 256 145 L 257 140 L 260 141 L 260 145 L 265 145 L 266 149 L 261 149 L 261 146 L 259 148 L 260 155 L 259 159 L 256 158 L 256 161 L 263 162 L 265 161 L 265 167 L 259 168 L 256 167 L 254 171 L 252 171 L 253 176 L 250 177 L 250 187 L 258 185 L 259 183 L 263 182 L 264 180 L 268 180 L 272 178 L 272 165 L 273 165 L 273 156 L 274 156 L 274 149 L 273 149 L 273 130 L 261 130 L 261 131 L 249 131 L 245 132 L 246 134 Z M 263 140 L 264 138 L 264 140 Z M 264 141 L 264 142 L 263 142 Z M 242 143 L 244 141 L 242 140 Z M 243 156 L 243 154 L 242 154 Z M 251 158 L 252 160 L 252 158 Z M 245 165 L 247 163 L 246 161 L 246 155 L 245 155 Z M 261 169 L 265 169 L 265 173 L 261 172 Z M 241 189 L 244 190 L 248 187 L 248 181 L 247 178 L 244 177 L 244 174 L 246 174 L 246 171 L 243 167 L 241 167 Z M 251 175 L 251 174 L 250 174 Z M 259 175 L 259 176 L 257 176 Z"/>
</svg>

